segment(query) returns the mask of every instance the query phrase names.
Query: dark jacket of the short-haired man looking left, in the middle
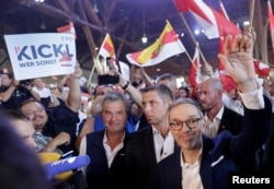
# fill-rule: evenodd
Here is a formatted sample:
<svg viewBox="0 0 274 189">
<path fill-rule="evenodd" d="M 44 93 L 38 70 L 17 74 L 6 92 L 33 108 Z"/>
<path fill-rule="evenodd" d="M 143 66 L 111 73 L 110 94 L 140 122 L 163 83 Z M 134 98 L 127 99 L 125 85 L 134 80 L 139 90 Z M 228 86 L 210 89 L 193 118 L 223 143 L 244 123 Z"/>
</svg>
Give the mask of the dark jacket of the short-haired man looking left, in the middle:
<svg viewBox="0 0 274 189">
<path fill-rule="evenodd" d="M 130 135 L 126 150 L 124 189 L 158 188 L 157 160 L 150 126 Z"/>
</svg>

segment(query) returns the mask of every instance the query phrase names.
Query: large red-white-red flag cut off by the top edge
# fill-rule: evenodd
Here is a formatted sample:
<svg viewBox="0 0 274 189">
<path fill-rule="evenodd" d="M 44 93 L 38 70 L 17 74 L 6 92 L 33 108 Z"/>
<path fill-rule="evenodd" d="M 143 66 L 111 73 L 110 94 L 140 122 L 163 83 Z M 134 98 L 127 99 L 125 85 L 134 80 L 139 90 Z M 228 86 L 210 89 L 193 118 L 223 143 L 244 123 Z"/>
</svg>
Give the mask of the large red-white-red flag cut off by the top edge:
<svg viewBox="0 0 274 189">
<path fill-rule="evenodd" d="M 209 39 L 241 33 L 239 27 L 202 0 L 174 0 L 174 3 L 179 12 L 189 10 L 192 13 Z"/>
</svg>

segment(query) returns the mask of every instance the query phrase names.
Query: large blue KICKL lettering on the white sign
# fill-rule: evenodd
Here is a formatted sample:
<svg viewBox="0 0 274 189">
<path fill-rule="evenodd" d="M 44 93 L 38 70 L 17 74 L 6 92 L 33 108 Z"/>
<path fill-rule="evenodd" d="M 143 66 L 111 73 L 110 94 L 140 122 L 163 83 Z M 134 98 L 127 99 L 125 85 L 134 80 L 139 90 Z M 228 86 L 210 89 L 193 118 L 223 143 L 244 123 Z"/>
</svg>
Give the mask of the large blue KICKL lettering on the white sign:
<svg viewBox="0 0 274 189">
<path fill-rule="evenodd" d="M 62 67 L 71 67 L 72 66 L 72 57 L 68 44 L 42 44 L 38 46 L 30 45 L 30 46 L 15 46 L 15 54 L 19 62 L 25 61 L 35 61 L 39 60 L 39 63 L 46 61 L 59 61 Z M 38 62 L 36 61 L 36 64 Z M 44 64 L 44 63 L 43 63 Z"/>
</svg>

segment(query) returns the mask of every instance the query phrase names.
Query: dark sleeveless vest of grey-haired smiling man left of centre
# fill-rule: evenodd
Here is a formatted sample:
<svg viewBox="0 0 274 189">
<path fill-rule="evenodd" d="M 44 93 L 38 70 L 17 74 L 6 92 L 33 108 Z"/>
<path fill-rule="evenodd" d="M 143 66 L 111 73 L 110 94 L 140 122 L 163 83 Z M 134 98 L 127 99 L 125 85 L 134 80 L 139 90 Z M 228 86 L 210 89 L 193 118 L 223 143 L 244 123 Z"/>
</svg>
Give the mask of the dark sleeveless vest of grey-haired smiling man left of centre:
<svg viewBox="0 0 274 189">
<path fill-rule="evenodd" d="M 87 170 L 88 186 L 90 189 L 121 188 L 124 179 L 125 149 L 128 134 L 126 133 L 124 146 L 117 152 L 110 168 L 103 146 L 103 138 L 104 130 L 87 135 L 87 155 L 91 160 Z"/>
</svg>

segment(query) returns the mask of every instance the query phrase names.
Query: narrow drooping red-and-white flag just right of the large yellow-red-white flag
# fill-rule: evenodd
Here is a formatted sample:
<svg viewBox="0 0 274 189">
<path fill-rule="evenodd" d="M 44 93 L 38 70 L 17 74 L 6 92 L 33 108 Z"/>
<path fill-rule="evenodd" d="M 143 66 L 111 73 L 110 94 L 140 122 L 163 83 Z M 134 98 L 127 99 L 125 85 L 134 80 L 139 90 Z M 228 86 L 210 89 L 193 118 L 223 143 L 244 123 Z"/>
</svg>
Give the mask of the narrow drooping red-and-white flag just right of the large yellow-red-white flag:
<svg viewBox="0 0 274 189">
<path fill-rule="evenodd" d="M 198 78 L 201 75 L 201 68 L 199 68 L 199 52 L 197 47 L 195 48 L 195 52 L 192 59 L 192 64 L 189 74 L 189 85 L 196 86 L 199 83 Z"/>
</svg>

